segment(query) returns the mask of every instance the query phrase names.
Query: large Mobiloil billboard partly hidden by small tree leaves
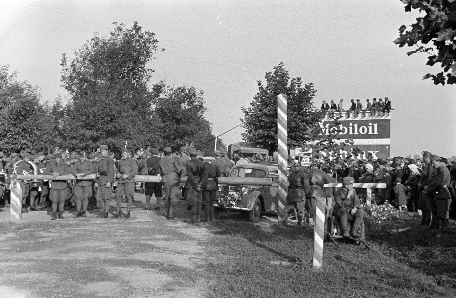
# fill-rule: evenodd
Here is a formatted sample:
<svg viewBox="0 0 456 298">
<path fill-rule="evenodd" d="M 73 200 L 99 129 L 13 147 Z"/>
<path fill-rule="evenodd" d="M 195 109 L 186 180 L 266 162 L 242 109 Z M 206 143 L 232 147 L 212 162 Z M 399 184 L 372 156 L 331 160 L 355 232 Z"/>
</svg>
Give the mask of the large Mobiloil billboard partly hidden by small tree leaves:
<svg viewBox="0 0 456 298">
<path fill-rule="evenodd" d="M 335 113 L 337 116 L 338 113 Z M 334 124 L 332 118 L 325 118 L 321 123 L 321 131 L 323 136 L 330 134 L 330 129 L 340 130 L 340 141 L 346 139 L 353 139 L 355 142 L 351 146 L 346 147 L 346 151 L 341 152 L 343 155 L 348 154 L 352 148 L 358 147 L 363 150 L 363 156 L 359 158 L 366 158 L 369 153 L 373 158 L 389 158 L 391 151 L 391 113 L 383 116 L 370 116 L 370 113 L 363 117 L 360 113 L 355 116 L 353 113 L 349 117 L 342 113 L 342 118 L 337 119 L 340 123 L 337 126 Z"/>
</svg>

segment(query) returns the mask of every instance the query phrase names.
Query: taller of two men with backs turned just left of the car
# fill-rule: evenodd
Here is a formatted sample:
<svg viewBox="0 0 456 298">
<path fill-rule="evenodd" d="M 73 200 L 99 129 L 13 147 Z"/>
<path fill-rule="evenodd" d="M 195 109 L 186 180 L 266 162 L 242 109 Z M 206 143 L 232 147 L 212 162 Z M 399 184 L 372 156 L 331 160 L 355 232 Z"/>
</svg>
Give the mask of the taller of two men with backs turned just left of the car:
<svg viewBox="0 0 456 298">
<path fill-rule="evenodd" d="M 188 205 L 192 207 L 191 218 L 186 222 L 201 222 L 202 188 L 205 187 L 202 176 L 207 175 L 204 163 L 197 159 L 197 149 L 189 151 L 190 160 L 187 162 L 187 183 L 185 191 L 187 193 Z"/>
</svg>

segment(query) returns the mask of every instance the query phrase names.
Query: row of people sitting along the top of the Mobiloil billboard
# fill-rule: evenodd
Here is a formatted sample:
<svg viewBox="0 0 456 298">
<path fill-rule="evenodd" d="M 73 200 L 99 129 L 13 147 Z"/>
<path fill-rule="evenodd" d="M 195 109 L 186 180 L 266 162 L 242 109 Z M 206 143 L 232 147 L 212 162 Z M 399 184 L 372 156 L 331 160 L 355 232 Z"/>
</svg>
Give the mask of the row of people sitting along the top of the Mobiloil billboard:
<svg viewBox="0 0 456 298">
<path fill-rule="evenodd" d="M 343 112 L 347 113 L 347 117 L 350 116 L 350 113 L 354 113 L 355 116 L 363 113 L 363 117 L 366 117 L 366 112 L 370 112 L 371 116 L 384 116 L 385 113 L 389 115 L 389 112 L 391 110 L 391 101 L 388 99 L 388 97 L 385 97 L 385 101 L 383 101 L 382 98 L 379 98 L 378 102 L 377 98 L 373 98 L 372 103 L 369 101 L 369 99 L 366 99 L 366 105 L 366 108 L 363 108 L 363 103 L 361 103 L 359 98 L 356 100 L 356 103 L 352 99 L 350 108 L 344 110 L 343 99 L 341 99 L 337 105 L 334 103 L 334 100 L 332 100 L 331 106 L 327 104 L 325 100 L 323 100 L 321 103 L 321 110 L 323 110 L 325 114 L 329 112 L 329 118 L 333 118 L 334 113 L 336 112 L 339 113 L 339 118 L 341 118 Z"/>
</svg>

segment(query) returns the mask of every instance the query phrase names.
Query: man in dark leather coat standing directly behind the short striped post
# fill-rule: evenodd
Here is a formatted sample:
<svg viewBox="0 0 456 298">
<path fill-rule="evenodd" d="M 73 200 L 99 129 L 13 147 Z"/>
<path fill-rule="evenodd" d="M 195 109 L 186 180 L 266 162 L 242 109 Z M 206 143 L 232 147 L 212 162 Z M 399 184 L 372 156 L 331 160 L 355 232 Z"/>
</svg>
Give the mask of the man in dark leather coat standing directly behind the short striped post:
<svg viewBox="0 0 456 298">
<path fill-rule="evenodd" d="M 310 170 L 307 172 L 309 177 L 310 191 L 306 193 L 306 210 L 315 219 L 315 200 L 323 200 L 326 203 L 326 195 L 323 189 L 325 183 L 329 183 L 326 173 L 318 169 L 318 165 L 312 162 Z"/>
</svg>

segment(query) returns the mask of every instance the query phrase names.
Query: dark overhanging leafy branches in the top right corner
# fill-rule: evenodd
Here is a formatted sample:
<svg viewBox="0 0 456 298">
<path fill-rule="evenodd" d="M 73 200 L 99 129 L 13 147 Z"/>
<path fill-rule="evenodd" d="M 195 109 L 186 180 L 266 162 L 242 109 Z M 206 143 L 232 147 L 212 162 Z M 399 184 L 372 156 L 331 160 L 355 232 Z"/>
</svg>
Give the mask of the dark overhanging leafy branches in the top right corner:
<svg viewBox="0 0 456 298">
<path fill-rule="evenodd" d="M 413 9 L 424 12 L 425 16 L 416 19 L 416 23 L 399 28 L 399 38 L 394 41 L 399 47 L 417 46 L 414 53 L 426 52 L 427 65 L 440 63 L 442 72 L 426 74 L 423 79 L 432 78 L 435 85 L 456 83 L 456 2 L 454 0 L 401 0 L 405 11 Z M 431 46 L 427 46 L 432 41 Z"/>
</svg>

